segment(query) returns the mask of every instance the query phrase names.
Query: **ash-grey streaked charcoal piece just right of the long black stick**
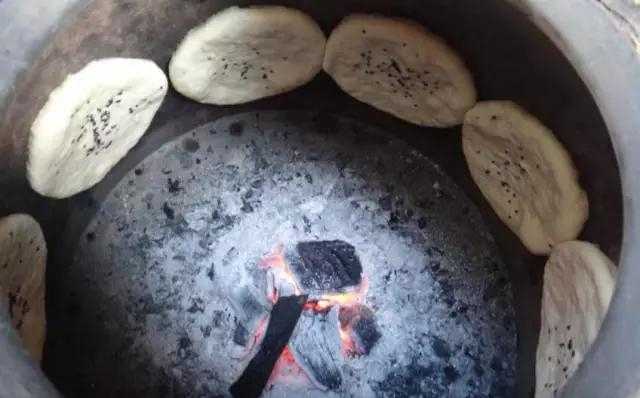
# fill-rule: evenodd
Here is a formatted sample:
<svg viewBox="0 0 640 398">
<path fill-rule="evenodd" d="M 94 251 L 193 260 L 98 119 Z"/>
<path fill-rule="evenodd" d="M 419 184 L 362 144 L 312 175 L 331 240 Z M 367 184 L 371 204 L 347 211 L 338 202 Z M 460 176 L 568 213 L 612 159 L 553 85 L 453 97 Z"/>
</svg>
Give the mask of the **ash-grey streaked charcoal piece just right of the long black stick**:
<svg viewBox="0 0 640 398">
<path fill-rule="evenodd" d="M 307 376 L 323 390 L 337 390 L 342 385 L 338 311 L 325 315 L 305 312 L 289 344 L 291 352 Z"/>
</svg>

